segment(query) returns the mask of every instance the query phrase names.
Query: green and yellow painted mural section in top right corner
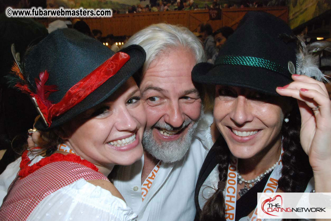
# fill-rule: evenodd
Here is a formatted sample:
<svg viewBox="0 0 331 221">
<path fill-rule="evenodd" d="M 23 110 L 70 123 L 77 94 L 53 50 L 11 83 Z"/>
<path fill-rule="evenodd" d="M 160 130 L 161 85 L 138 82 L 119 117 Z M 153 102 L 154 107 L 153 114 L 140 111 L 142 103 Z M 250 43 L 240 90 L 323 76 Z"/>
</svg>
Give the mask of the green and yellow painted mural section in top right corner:
<svg viewBox="0 0 331 221">
<path fill-rule="evenodd" d="M 289 24 L 295 28 L 331 9 L 330 0 L 291 0 Z"/>
</svg>

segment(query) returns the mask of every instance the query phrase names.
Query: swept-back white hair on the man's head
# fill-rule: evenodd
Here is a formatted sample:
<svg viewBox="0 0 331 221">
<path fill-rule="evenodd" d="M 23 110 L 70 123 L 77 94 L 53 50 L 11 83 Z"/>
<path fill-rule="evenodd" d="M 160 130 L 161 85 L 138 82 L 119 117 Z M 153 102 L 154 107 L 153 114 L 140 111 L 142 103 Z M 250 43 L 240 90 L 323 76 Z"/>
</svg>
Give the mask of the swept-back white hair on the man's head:
<svg viewBox="0 0 331 221">
<path fill-rule="evenodd" d="M 132 35 L 123 47 L 129 45 L 140 45 L 146 51 L 143 73 L 158 56 L 177 47 L 190 49 L 195 55 L 196 63 L 206 61 L 200 40 L 190 30 L 179 25 L 152 24 Z"/>
</svg>

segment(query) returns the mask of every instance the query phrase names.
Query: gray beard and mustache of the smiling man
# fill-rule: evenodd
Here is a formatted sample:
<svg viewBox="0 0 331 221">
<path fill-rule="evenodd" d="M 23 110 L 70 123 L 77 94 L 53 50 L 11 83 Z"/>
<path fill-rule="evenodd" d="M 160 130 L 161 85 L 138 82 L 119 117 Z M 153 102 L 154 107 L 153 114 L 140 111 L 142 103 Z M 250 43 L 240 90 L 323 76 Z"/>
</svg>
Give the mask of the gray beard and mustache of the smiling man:
<svg viewBox="0 0 331 221">
<path fill-rule="evenodd" d="M 199 120 L 202 118 L 202 115 L 203 112 L 200 115 Z M 146 150 L 156 159 L 161 160 L 165 163 L 174 163 L 181 160 L 185 156 L 188 148 L 191 145 L 193 133 L 198 126 L 199 120 L 193 121 L 191 119 L 186 119 L 183 122 L 182 126 L 180 126 L 179 128 L 174 128 L 167 123 L 157 122 L 155 125 L 152 126 L 151 129 L 145 130 L 144 132 L 144 136 L 142 139 L 144 150 Z M 172 131 L 175 129 L 183 129 L 186 126 L 188 126 L 187 133 L 183 137 L 175 141 L 157 142 L 153 137 L 153 128 L 155 127 L 160 127 Z"/>
</svg>

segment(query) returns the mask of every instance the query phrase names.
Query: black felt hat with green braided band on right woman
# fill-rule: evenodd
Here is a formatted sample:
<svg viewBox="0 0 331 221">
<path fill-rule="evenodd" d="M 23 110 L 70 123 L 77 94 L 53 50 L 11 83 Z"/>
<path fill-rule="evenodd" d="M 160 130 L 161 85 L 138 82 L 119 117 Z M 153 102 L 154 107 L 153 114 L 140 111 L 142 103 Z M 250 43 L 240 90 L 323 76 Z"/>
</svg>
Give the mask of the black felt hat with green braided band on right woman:
<svg viewBox="0 0 331 221">
<path fill-rule="evenodd" d="M 293 33 L 283 20 L 265 12 L 248 12 L 221 47 L 215 65 L 197 64 L 192 79 L 279 96 L 276 87 L 293 81 L 296 47 Z"/>
</svg>

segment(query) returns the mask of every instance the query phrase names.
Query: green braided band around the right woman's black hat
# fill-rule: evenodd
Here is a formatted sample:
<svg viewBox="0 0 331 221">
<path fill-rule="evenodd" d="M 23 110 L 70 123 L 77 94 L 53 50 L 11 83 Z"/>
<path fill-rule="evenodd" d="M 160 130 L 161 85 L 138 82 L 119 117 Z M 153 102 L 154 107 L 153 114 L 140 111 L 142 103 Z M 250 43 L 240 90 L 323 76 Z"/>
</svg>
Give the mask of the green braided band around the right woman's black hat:
<svg viewBox="0 0 331 221">
<path fill-rule="evenodd" d="M 258 58 L 258 57 L 248 57 L 248 56 L 219 56 L 215 65 L 224 65 L 224 64 L 233 64 L 233 65 L 246 65 L 252 67 L 265 68 L 270 71 L 277 72 L 285 77 L 288 77 L 286 69 L 269 60 Z"/>
</svg>

